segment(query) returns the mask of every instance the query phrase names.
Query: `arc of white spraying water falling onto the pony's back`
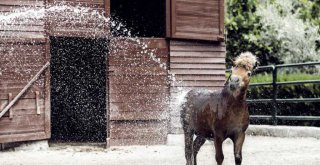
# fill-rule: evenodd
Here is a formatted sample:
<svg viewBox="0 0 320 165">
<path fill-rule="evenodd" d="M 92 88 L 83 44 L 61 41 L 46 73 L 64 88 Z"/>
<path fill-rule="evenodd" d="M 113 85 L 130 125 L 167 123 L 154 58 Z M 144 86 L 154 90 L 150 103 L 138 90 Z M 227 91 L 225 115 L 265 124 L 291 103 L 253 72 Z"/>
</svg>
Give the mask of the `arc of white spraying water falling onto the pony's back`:
<svg viewBox="0 0 320 165">
<path fill-rule="evenodd" d="M 68 13 L 68 17 L 62 17 L 65 15 L 65 13 Z M 131 34 L 131 31 L 129 28 L 126 27 L 125 23 L 120 22 L 116 18 L 110 18 L 105 17 L 105 13 L 94 10 L 88 7 L 81 7 L 81 6 L 70 6 L 64 3 L 60 4 L 53 4 L 49 5 L 46 8 L 44 7 L 21 7 L 12 10 L 11 12 L 7 13 L 1 13 L 0 14 L 0 29 L 3 29 L 3 31 L 0 32 L 0 40 L 7 40 L 7 39 L 23 39 L 25 35 L 22 33 L 24 28 L 26 28 L 26 25 L 35 24 L 35 25 L 43 25 L 40 26 L 41 28 L 39 31 L 43 31 L 43 36 L 36 36 L 36 37 L 46 37 L 45 34 L 45 22 L 47 22 L 49 25 L 54 24 L 54 22 L 51 21 L 50 18 L 61 18 L 57 21 L 56 28 L 59 28 L 61 25 L 68 25 L 68 28 L 78 28 L 78 24 L 86 24 L 90 22 L 90 25 L 92 26 L 92 30 L 88 31 L 88 35 L 90 35 L 93 38 L 106 38 L 107 40 L 112 40 L 113 36 L 111 35 L 109 31 L 108 25 L 111 25 L 111 30 L 113 33 L 121 34 L 120 37 L 125 38 L 126 40 L 130 41 L 131 43 L 134 42 L 136 45 L 142 48 L 140 54 L 147 54 L 148 57 L 159 64 L 159 67 L 163 70 L 167 71 L 167 64 L 165 62 L 161 62 L 160 58 L 157 58 L 156 49 L 149 49 L 148 43 L 145 43 L 141 41 L 141 39 L 137 37 L 133 37 Z M 45 21 L 47 20 L 47 21 Z M 94 21 L 93 21 L 94 20 Z M 15 29 L 15 30 L 12 30 Z M 103 29 L 101 31 L 101 29 Z M 83 34 L 82 34 L 83 35 Z M 110 45 L 112 47 L 116 47 L 121 50 L 126 50 L 128 48 L 128 45 L 120 45 L 118 42 L 112 42 L 111 44 L 116 45 Z M 11 68 L 14 66 L 13 71 L 15 72 L 17 77 L 20 77 L 24 75 L 24 79 L 21 80 L 21 82 L 27 83 L 33 76 L 33 72 L 35 68 L 29 68 L 26 69 L 25 63 L 24 63 L 24 57 L 19 57 L 17 59 L 16 56 L 14 56 L 14 52 L 19 49 L 19 46 L 14 46 L 10 43 L 2 43 L 0 46 L 0 54 L 5 54 L 5 61 L 7 61 L 6 64 L 3 64 L 0 66 L 0 77 L 2 73 L 7 72 L 8 68 Z M 33 50 L 30 48 L 30 50 L 20 50 L 22 52 L 28 52 Z M 41 50 L 38 50 L 41 52 Z M 11 66 L 11 67 L 10 67 Z M 28 76 L 26 76 L 28 75 Z M 12 77 L 15 78 L 15 77 Z M 21 78 L 20 78 L 21 79 Z M 43 85 L 43 81 L 37 81 L 36 84 L 41 86 Z M 167 84 L 174 83 L 176 86 L 179 86 L 179 81 L 175 79 L 175 75 L 168 72 L 168 81 Z M 3 88 L 6 88 L 6 83 L 1 83 L 1 86 Z M 66 91 L 67 92 L 67 91 Z M 183 98 L 186 94 L 186 91 L 183 91 L 182 88 L 178 88 L 178 101 L 182 102 Z M 165 102 L 162 102 L 161 99 L 159 99 L 161 104 L 163 104 L 163 107 L 166 107 L 170 104 L 170 98 L 167 98 Z M 166 111 L 164 111 L 167 113 Z M 163 114 L 164 116 L 168 117 L 167 114 Z"/>
</svg>

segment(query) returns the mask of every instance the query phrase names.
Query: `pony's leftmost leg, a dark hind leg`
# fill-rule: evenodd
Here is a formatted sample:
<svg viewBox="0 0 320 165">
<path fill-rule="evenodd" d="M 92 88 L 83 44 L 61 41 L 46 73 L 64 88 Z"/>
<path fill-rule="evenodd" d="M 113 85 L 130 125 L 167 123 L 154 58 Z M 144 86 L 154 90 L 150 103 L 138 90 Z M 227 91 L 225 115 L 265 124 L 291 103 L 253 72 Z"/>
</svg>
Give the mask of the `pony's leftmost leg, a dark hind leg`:
<svg viewBox="0 0 320 165">
<path fill-rule="evenodd" d="M 184 142 L 187 165 L 193 165 L 193 132 L 185 131 Z"/>
</svg>

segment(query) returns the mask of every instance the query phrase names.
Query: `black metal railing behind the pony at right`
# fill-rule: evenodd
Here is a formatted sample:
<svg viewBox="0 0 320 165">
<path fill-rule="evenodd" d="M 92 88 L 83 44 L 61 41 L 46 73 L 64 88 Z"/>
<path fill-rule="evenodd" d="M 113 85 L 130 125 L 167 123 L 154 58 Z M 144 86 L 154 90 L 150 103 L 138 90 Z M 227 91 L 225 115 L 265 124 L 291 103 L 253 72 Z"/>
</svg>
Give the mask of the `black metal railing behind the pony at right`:
<svg viewBox="0 0 320 165">
<path fill-rule="evenodd" d="M 291 98 L 280 99 L 278 98 L 278 87 L 282 85 L 298 85 L 298 84 L 320 84 L 320 80 L 303 80 L 303 81 L 285 81 L 278 82 L 278 70 L 281 68 L 302 67 L 302 66 L 315 66 L 320 65 L 320 62 L 309 63 L 296 63 L 296 64 L 282 64 L 282 65 L 269 65 L 256 68 L 256 71 L 271 71 L 272 82 L 265 83 L 252 83 L 250 87 L 259 86 L 272 86 L 272 97 L 269 99 L 248 99 L 249 104 L 254 103 L 271 103 L 271 115 L 250 115 L 250 119 L 255 120 L 271 120 L 274 125 L 277 125 L 278 119 L 281 120 L 305 120 L 305 121 L 320 121 L 320 116 L 279 116 L 278 103 L 299 103 L 299 102 L 320 102 L 320 98 Z M 228 70 L 227 70 L 228 71 Z"/>
</svg>

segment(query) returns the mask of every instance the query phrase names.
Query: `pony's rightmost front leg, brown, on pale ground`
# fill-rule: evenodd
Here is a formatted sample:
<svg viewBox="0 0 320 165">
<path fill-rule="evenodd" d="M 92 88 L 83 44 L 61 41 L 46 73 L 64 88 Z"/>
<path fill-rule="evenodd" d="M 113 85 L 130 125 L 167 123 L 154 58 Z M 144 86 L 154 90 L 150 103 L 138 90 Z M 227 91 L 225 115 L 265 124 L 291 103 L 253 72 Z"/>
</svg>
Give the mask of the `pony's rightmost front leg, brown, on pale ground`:
<svg viewBox="0 0 320 165">
<path fill-rule="evenodd" d="M 233 146 L 234 146 L 234 160 L 236 165 L 241 165 L 241 162 L 242 162 L 242 146 L 243 146 L 244 139 L 245 139 L 244 132 L 238 133 L 234 137 L 234 139 L 232 139 Z"/>
</svg>

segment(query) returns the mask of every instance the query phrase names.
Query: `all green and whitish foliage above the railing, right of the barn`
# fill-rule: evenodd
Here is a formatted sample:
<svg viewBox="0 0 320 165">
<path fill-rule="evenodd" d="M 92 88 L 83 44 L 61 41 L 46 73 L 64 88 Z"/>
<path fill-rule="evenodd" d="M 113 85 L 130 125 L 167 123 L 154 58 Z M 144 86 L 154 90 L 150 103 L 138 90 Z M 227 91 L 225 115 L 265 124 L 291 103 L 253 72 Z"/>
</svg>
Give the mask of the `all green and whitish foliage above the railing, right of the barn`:
<svg viewBox="0 0 320 165">
<path fill-rule="evenodd" d="M 244 51 L 261 65 L 320 60 L 320 0 L 226 0 L 226 7 L 227 65 Z"/>
</svg>

